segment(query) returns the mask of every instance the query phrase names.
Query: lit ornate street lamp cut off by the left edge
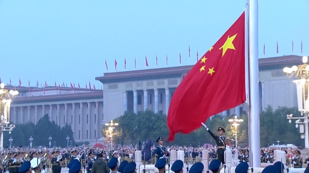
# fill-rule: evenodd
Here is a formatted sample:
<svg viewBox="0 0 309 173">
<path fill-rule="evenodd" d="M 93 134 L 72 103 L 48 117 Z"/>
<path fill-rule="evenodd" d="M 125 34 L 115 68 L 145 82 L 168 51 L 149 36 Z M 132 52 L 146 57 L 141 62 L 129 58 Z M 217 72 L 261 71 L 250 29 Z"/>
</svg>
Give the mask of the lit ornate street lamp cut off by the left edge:
<svg viewBox="0 0 309 173">
<path fill-rule="evenodd" d="M 11 131 L 15 128 L 15 125 L 10 123 L 10 107 L 12 99 L 16 98 L 18 91 L 6 90 L 4 83 L 0 84 L 0 150 L 3 150 L 3 132 Z"/>
</svg>

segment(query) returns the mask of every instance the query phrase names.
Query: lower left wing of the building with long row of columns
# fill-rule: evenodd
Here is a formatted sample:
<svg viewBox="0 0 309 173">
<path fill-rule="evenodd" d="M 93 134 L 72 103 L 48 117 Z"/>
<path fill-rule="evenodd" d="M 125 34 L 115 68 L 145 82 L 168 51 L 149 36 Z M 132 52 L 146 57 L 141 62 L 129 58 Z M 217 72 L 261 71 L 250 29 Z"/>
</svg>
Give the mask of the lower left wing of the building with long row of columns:
<svg viewBox="0 0 309 173">
<path fill-rule="evenodd" d="M 16 88 L 16 89 L 15 89 Z M 60 127 L 71 125 L 74 139 L 95 141 L 102 138 L 103 91 L 63 87 L 30 88 L 6 86 L 19 95 L 13 100 L 10 121 L 13 124 L 32 122 L 36 124 L 48 114 L 49 120 Z"/>
</svg>

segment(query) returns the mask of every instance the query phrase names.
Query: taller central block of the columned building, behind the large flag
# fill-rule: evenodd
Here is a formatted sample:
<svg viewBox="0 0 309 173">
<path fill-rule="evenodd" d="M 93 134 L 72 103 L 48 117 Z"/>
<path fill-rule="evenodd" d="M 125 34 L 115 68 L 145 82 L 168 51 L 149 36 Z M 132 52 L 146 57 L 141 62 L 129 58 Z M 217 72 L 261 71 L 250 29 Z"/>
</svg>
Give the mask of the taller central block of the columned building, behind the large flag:
<svg viewBox="0 0 309 173">
<path fill-rule="evenodd" d="M 296 55 L 259 59 L 260 109 L 272 106 L 296 107 L 296 85 L 283 73 L 285 66 L 302 63 Z M 167 115 L 173 93 L 193 66 L 104 73 L 97 77 L 103 83 L 103 114 L 107 121 L 126 111 L 150 110 Z M 232 91 L 231 91 L 232 92 Z M 220 113 L 240 115 L 247 111 L 246 103 Z"/>
</svg>

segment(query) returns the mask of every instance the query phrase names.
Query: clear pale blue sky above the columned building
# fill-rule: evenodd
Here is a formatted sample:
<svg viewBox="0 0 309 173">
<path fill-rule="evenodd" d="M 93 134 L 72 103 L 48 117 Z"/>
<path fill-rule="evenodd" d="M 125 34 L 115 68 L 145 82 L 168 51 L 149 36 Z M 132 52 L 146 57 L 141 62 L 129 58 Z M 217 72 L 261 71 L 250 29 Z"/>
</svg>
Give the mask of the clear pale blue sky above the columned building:
<svg viewBox="0 0 309 173">
<path fill-rule="evenodd" d="M 49 85 L 78 82 L 85 87 L 95 77 L 127 69 L 188 65 L 196 51 L 204 54 L 244 10 L 246 0 L 2 0 L 0 1 L 0 57 L 2 82 L 23 86 L 36 80 Z M 309 55 L 309 1 L 259 1 L 259 57 Z"/>
</svg>

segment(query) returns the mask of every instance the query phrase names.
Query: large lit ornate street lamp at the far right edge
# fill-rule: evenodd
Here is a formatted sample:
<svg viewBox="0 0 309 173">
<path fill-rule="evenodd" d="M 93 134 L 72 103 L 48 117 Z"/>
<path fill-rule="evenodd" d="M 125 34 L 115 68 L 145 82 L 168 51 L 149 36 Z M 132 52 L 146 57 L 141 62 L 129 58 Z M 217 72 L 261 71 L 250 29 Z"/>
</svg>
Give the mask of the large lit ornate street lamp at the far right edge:
<svg viewBox="0 0 309 173">
<path fill-rule="evenodd" d="M 309 134 L 308 134 L 308 111 L 309 111 L 309 99 L 308 99 L 308 87 L 309 87 L 309 65 L 307 64 L 308 57 L 303 57 L 303 64 L 298 66 L 284 67 L 283 72 L 289 78 L 297 78 L 293 82 L 296 84 L 298 111 L 300 111 L 302 117 L 292 118 L 291 115 L 286 115 L 289 119 L 289 123 L 292 123 L 291 119 L 296 120 L 295 127 L 298 128 L 301 133 L 301 138 L 305 139 L 305 148 L 309 148 Z M 300 119 L 304 121 L 301 122 Z"/>
</svg>

